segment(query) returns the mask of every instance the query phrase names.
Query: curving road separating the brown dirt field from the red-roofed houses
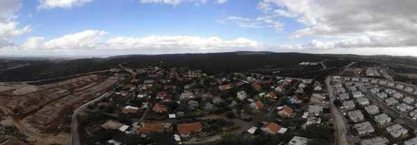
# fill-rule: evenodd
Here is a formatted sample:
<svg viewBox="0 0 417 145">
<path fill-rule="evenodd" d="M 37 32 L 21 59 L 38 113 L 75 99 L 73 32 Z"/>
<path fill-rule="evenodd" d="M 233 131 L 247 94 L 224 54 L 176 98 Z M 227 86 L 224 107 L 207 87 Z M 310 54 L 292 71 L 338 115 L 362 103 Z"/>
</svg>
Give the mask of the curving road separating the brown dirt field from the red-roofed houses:
<svg viewBox="0 0 417 145">
<path fill-rule="evenodd" d="M 110 91 L 110 92 L 106 92 L 106 94 L 103 94 L 101 96 L 99 96 L 99 98 L 94 99 L 93 101 L 90 101 L 88 103 L 85 103 L 84 105 L 81 105 L 80 108 L 78 108 L 74 114 L 72 114 L 72 123 L 71 123 L 71 142 L 70 145 L 80 145 L 80 138 L 79 138 L 79 133 L 78 133 L 78 120 L 76 119 L 76 116 L 82 112 L 85 108 L 88 107 L 88 105 L 92 104 L 92 103 L 96 103 L 97 101 L 104 99 L 108 96 L 111 96 L 111 94 L 114 94 L 115 92 Z"/>
</svg>

